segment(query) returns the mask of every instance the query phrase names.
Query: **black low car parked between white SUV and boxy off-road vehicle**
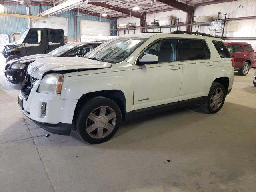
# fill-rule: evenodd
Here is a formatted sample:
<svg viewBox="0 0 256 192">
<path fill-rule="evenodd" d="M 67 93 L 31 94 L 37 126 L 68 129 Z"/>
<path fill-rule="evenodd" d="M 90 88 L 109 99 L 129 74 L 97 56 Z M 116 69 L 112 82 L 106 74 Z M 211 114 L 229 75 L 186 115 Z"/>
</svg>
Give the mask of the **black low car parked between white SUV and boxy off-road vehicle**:
<svg viewBox="0 0 256 192">
<path fill-rule="evenodd" d="M 30 55 L 12 59 L 6 63 L 4 74 L 8 81 L 14 84 L 22 84 L 28 65 L 34 62 L 37 58 L 42 57 L 75 57 L 83 56 L 95 47 L 99 46 L 100 42 L 76 42 L 61 46 L 48 54 Z"/>
</svg>

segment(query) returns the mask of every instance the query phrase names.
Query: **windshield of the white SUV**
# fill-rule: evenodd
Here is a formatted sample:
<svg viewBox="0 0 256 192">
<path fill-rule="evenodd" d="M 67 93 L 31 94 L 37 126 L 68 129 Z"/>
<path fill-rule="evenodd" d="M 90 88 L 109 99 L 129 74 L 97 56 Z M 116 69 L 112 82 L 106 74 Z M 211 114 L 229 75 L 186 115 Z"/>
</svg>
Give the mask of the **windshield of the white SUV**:
<svg viewBox="0 0 256 192">
<path fill-rule="evenodd" d="M 119 63 L 125 60 L 146 40 L 148 39 L 137 37 L 114 38 L 86 54 L 85 58 L 92 58 L 109 63 Z"/>
</svg>

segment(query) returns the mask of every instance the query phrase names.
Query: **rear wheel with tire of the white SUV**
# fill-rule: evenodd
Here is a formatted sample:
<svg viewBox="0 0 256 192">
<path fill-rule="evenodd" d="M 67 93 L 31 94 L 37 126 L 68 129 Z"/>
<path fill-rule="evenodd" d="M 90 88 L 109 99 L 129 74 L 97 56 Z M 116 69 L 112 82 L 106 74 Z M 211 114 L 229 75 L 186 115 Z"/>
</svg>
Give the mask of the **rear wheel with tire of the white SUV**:
<svg viewBox="0 0 256 192">
<path fill-rule="evenodd" d="M 220 95 L 220 97 L 218 96 L 219 99 L 222 99 L 222 102 L 219 102 L 219 100 L 216 100 L 215 103 L 217 102 L 217 104 L 214 104 L 213 98 L 216 98 L 215 97 L 216 96 L 216 90 L 218 90 L 217 91 L 218 94 L 223 93 L 222 96 L 221 95 Z M 222 90 L 222 92 L 221 92 L 221 90 Z M 222 106 L 225 102 L 225 98 L 226 98 L 226 89 L 225 89 L 225 87 L 220 83 L 212 83 L 209 94 L 207 96 L 207 101 L 204 105 L 204 108 L 209 113 L 216 113 L 222 108 Z M 214 105 L 212 106 L 212 104 L 214 104 Z"/>
</svg>

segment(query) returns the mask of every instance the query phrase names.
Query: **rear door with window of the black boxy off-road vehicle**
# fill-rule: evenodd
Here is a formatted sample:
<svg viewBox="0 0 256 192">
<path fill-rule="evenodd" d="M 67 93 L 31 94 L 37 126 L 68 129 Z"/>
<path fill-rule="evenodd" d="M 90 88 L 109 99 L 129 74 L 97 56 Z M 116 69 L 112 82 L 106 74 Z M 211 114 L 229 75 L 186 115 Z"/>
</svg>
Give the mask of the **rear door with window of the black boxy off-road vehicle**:
<svg viewBox="0 0 256 192">
<path fill-rule="evenodd" d="M 48 29 L 49 52 L 64 45 L 63 30 Z"/>
</svg>

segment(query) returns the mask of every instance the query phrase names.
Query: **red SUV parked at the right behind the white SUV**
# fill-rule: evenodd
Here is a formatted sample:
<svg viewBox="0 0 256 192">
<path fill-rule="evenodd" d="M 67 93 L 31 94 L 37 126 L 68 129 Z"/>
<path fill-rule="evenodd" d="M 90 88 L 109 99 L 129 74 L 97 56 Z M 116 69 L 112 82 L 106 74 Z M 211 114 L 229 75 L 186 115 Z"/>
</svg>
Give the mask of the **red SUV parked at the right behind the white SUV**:
<svg viewBox="0 0 256 192">
<path fill-rule="evenodd" d="M 239 75 L 247 75 L 249 69 L 254 67 L 254 50 L 251 44 L 244 42 L 225 43 L 235 60 L 235 70 Z"/>
</svg>

